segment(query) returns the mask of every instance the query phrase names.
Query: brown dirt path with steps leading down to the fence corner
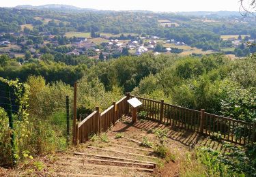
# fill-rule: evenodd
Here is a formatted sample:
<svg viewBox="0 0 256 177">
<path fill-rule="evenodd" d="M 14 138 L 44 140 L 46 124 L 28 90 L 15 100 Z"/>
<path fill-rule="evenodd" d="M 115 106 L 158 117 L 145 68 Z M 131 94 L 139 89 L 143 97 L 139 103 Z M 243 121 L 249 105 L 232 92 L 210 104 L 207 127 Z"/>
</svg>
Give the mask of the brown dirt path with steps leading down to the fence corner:
<svg viewBox="0 0 256 177">
<path fill-rule="evenodd" d="M 175 157 L 174 162 L 166 163 L 151 152 L 152 148 L 119 138 L 122 135 L 141 142 L 146 137 L 150 142 L 159 144 L 156 133 L 152 132 L 155 128 L 168 129 L 166 144 Z M 196 144 L 204 143 L 208 142 L 201 140 L 196 133 L 175 131 L 148 120 L 131 125 L 130 118 L 124 118 L 107 133 L 95 135 L 89 142 L 66 152 L 37 157 L 18 165 L 15 170 L 0 168 L 0 176 L 179 176 L 180 162 L 186 153 Z M 74 155 L 74 152 L 81 154 Z M 156 168 L 147 162 L 157 163 Z"/>
</svg>

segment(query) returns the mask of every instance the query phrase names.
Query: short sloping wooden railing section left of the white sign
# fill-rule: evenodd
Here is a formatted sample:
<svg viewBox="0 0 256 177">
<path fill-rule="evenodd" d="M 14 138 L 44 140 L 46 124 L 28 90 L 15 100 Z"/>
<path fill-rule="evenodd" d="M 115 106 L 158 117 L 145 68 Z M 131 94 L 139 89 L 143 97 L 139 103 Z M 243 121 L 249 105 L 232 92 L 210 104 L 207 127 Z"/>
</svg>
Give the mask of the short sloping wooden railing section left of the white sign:
<svg viewBox="0 0 256 177">
<path fill-rule="evenodd" d="M 117 120 L 122 118 L 124 114 L 128 114 L 127 97 L 123 97 L 117 103 L 113 103 L 112 106 L 100 113 L 99 108 L 92 112 L 89 116 L 76 125 L 75 142 L 83 143 L 89 140 L 91 135 L 104 132 L 115 125 Z"/>
</svg>

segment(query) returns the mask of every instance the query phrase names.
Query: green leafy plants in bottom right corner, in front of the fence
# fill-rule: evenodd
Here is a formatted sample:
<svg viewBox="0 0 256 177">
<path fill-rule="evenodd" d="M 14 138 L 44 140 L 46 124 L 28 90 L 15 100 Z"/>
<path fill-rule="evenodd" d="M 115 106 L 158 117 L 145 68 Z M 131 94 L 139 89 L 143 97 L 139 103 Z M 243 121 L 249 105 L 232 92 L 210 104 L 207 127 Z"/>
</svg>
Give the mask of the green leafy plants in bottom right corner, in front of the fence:
<svg viewBox="0 0 256 177">
<path fill-rule="evenodd" d="M 200 148 L 197 154 L 199 161 L 206 167 L 210 176 L 255 176 L 256 144 L 240 148 L 224 144 L 230 152 L 224 154 L 211 148 Z"/>
</svg>

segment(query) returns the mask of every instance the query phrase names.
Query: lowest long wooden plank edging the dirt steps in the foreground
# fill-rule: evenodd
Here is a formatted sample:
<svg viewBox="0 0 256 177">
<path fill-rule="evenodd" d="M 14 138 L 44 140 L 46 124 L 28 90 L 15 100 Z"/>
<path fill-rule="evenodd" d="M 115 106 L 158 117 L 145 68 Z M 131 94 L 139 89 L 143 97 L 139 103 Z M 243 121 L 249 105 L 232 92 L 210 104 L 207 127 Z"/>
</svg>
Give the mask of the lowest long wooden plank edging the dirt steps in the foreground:
<svg viewBox="0 0 256 177">
<path fill-rule="evenodd" d="M 62 165 L 72 165 L 72 166 L 80 166 L 80 167 L 107 167 L 107 168 L 117 168 L 117 169 L 128 169 L 128 170 L 139 170 L 139 171 L 146 171 L 146 172 L 154 172 L 154 169 L 150 168 L 140 168 L 140 167 L 122 167 L 122 166 L 115 166 L 115 165 L 98 165 L 98 164 L 91 164 L 91 163 L 70 163 L 70 162 L 57 162 Z"/>
</svg>

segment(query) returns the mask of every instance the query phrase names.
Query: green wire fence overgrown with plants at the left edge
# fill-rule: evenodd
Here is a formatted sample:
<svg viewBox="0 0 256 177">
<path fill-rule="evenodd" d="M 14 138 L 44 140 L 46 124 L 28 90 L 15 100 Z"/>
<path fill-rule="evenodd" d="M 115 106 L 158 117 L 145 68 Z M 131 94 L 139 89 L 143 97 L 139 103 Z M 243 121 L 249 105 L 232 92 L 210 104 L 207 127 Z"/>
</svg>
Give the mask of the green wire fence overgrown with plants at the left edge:
<svg viewBox="0 0 256 177">
<path fill-rule="evenodd" d="M 5 142 L 0 143 L 0 165 L 15 164 L 23 152 L 35 155 L 64 150 L 71 144 L 73 116 L 68 96 L 63 95 L 64 101 L 54 106 L 44 103 L 39 108 L 27 108 L 21 97 L 15 87 L 0 80 L 0 142 Z"/>
</svg>

